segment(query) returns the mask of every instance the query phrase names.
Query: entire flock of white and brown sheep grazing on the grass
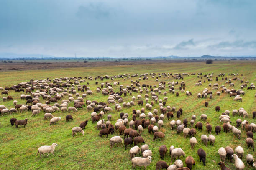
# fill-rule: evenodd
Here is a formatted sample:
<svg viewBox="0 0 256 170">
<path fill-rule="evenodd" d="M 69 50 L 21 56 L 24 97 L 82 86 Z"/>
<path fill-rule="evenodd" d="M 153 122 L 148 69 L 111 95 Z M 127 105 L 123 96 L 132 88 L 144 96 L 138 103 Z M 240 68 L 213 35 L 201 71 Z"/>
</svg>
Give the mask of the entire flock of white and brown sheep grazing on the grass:
<svg viewBox="0 0 256 170">
<path fill-rule="evenodd" d="M 210 122 L 207 122 L 207 115 L 202 114 L 199 118 L 205 123 L 195 121 L 197 119 L 196 115 L 192 115 L 190 122 L 185 118 L 184 120 L 179 120 L 183 112 L 182 108 L 176 109 L 176 107 L 170 107 L 167 105 L 168 97 L 166 96 L 168 91 L 169 93 L 176 94 L 176 97 L 179 95 L 191 96 L 192 92 L 185 91 L 186 84 L 183 80 L 184 76 L 193 76 L 193 74 L 133 74 L 133 75 L 116 75 L 116 76 L 97 76 L 97 77 L 64 77 L 64 78 L 55 78 L 53 80 L 45 79 L 45 80 L 31 80 L 29 82 L 21 82 L 18 85 L 13 85 L 12 87 L 0 87 L 2 91 L 1 94 L 3 95 L 3 102 L 13 100 L 12 96 L 8 96 L 10 91 L 15 92 L 23 92 L 26 94 L 21 94 L 20 99 L 26 101 L 26 103 L 19 104 L 16 100 L 13 101 L 15 108 L 6 108 L 5 105 L 0 105 L 0 112 L 2 115 L 6 114 L 14 114 L 17 112 L 27 112 L 31 111 L 31 116 L 41 115 L 41 112 L 45 112 L 44 120 L 50 118 L 50 124 L 56 124 L 58 121 L 61 120 L 61 117 L 54 117 L 54 112 L 61 111 L 61 112 L 68 112 L 72 114 L 72 112 L 77 112 L 79 109 L 83 109 L 86 107 L 87 112 L 91 113 L 91 123 L 97 124 L 97 129 L 99 131 L 99 136 L 102 137 L 116 133 L 119 133 L 119 136 L 113 136 L 110 138 L 110 148 L 113 149 L 115 144 L 124 143 L 125 150 L 129 145 L 134 145 L 130 150 L 130 158 L 132 163 L 132 168 L 136 166 L 143 166 L 147 167 L 150 165 L 151 160 L 154 158 L 157 159 L 156 155 L 152 154 L 150 147 L 145 144 L 145 140 L 143 139 L 142 131 L 148 130 L 149 134 L 153 134 L 152 140 L 165 140 L 165 134 L 161 132 L 161 127 L 163 127 L 164 122 L 163 120 L 166 117 L 172 119 L 173 117 L 177 116 L 178 120 L 170 120 L 169 125 L 170 129 L 174 130 L 177 128 L 177 135 L 180 133 L 184 134 L 184 138 L 190 138 L 190 145 L 191 149 L 193 150 L 195 145 L 197 144 L 198 138 L 195 137 L 197 130 L 202 131 L 202 127 L 205 124 L 207 129 L 207 133 L 212 133 L 212 125 Z M 213 85 L 210 83 L 208 84 L 208 88 L 212 90 L 219 90 L 215 93 L 212 92 L 210 89 L 205 88 L 201 93 L 197 94 L 198 98 L 213 98 L 214 94 L 216 97 L 220 96 L 221 93 L 225 93 L 230 95 L 230 97 L 234 97 L 233 100 L 235 101 L 243 101 L 242 95 L 246 95 L 247 90 L 254 90 L 255 85 L 250 83 L 249 81 L 244 81 L 243 75 L 241 75 L 241 79 L 237 78 L 238 74 L 228 74 L 228 76 L 233 76 L 233 78 L 227 77 L 225 74 L 219 74 L 215 81 L 218 81 L 219 78 L 222 80 L 226 80 L 225 85 L 219 86 L 218 83 L 214 83 Z M 132 79 L 138 77 L 138 80 L 133 81 Z M 148 80 L 149 77 L 155 79 L 155 82 L 158 82 L 159 77 L 167 77 L 173 78 L 172 82 L 159 82 L 158 85 L 148 85 L 148 84 L 140 84 L 140 81 Z M 131 84 L 124 87 L 120 85 L 119 82 L 113 82 L 113 84 L 109 82 L 98 84 L 97 80 L 109 80 L 115 81 L 115 79 L 122 78 L 123 80 L 130 80 Z M 202 86 L 203 83 L 206 81 L 211 82 L 213 81 L 213 73 L 202 75 L 202 73 L 198 73 L 197 78 L 199 79 L 195 86 Z M 97 95 L 104 95 L 108 96 L 106 101 L 90 101 L 84 100 L 87 95 L 93 95 L 93 91 L 89 87 L 90 80 L 96 80 L 96 94 Z M 109 80 L 110 81 L 110 80 Z M 84 83 L 87 82 L 87 85 Z M 84 84 L 84 85 L 80 85 Z M 230 87 L 234 87 L 238 84 L 239 89 L 229 89 Z M 174 87 L 179 87 L 178 90 L 174 90 Z M 113 88 L 118 87 L 118 91 L 115 91 Z M 166 90 L 168 88 L 169 90 Z M 166 90 L 166 91 L 165 91 Z M 80 93 L 82 92 L 82 95 Z M 138 94 L 139 93 L 139 94 Z M 142 94 L 145 93 L 145 100 L 142 100 Z M 181 93 L 181 94 L 180 94 Z M 28 94 L 28 95 L 27 95 Z M 133 96 L 134 94 L 137 97 Z M 6 95 L 6 96 L 5 96 Z M 122 96 L 131 96 L 131 101 L 124 101 Z M 160 99 L 159 96 L 164 95 L 163 99 Z M 68 96 L 68 99 L 64 99 L 65 96 Z M 76 99 L 73 98 L 76 97 Z M 256 97 L 256 94 L 255 94 Z M 41 103 L 42 100 L 45 100 L 45 103 Z M 136 101 L 137 100 L 137 101 Z M 150 101 L 151 100 L 151 101 Z M 193 99 L 194 100 L 194 99 Z M 60 103 L 58 103 L 61 101 Z M 136 103 L 137 102 L 137 103 Z M 54 103 L 54 104 L 52 104 Z M 121 112 L 123 108 L 130 108 L 134 105 L 141 105 L 141 110 L 134 110 L 132 113 L 123 113 Z M 145 105 L 145 108 L 143 107 Z M 208 107 L 209 103 L 205 102 L 205 107 Z M 154 108 L 154 106 L 157 106 Z M 220 111 L 220 106 L 215 107 L 216 113 Z M 120 112 L 120 119 L 116 120 L 112 124 L 112 114 L 114 112 Z M 146 115 L 146 112 L 147 115 Z M 160 113 L 160 115 L 159 115 Z M 175 115 L 176 113 L 176 115 Z M 107 114 L 107 116 L 105 116 Z M 158 116 L 159 115 L 159 116 Z M 252 112 L 252 114 L 248 113 L 244 108 L 239 108 L 238 110 L 234 109 L 232 111 L 232 116 L 242 116 L 243 118 L 246 117 L 256 117 L 256 112 Z M 254 141 L 253 141 L 253 132 L 256 132 L 256 124 L 251 122 L 249 123 L 247 120 L 236 120 L 236 126 L 232 125 L 233 122 L 230 121 L 230 111 L 226 110 L 219 116 L 220 122 L 223 122 L 223 131 L 228 133 L 232 131 L 232 133 L 238 138 L 241 139 L 241 133 L 246 133 L 246 144 L 247 149 L 249 147 L 253 148 L 254 152 Z M 107 121 L 103 119 L 103 117 L 107 118 Z M 66 116 L 66 122 L 73 120 L 72 115 Z M 18 125 L 23 125 L 24 128 L 28 124 L 29 119 L 25 118 L 24 120 L 17 120 L 16 118 L 11 118 L 10 123 L 11 125 L 15 125 L 18 128 Z M 84 129 L 87 123 L 90 120 L 85 120 L 81 122 L 79 126 L 72 128 L 72 135 L 77 135 L 77 133 L 82 133 L 84 135 Z M 188 124 L 189 123 L 189 124 Z M 194 128 L 195 124 L 195 128 Z M 241 126 L 241 128 L 240 128 Z M 215 134 L 221 132 L 222 129 L 220 126 L 215 126 Z M 239 129 L 240 128 L 240 129 Z M 242 131 L 241 131 L 242 130 Z M 245 131 L 243 131 L 245 130 Z M 124 135 L 122 138 L 121 135 Z M 215 135 L 210 134 L 201 135 L 200 141 L 207 146 L 208 142 L 210 145 L 214 146 L 215 143 Z M 138 144 L 141 144 L 141 148 L 138 147 Z M 142 143 L 144 145 L 142 145 Z M 54 149 L 57 146 L 56 143 L 52 143 L 51 146 L 41 146 L 38 148 L 38 152 L 36 155 L 52 153 L 54 155 Z M 224 148 L 225 147 L 225 148 Z M 195 160 L 192 156 L 187 156 L 185 159 L 186 167 L 184 167 L 184 163 L 182 160 L 179 159 L 180 156 L 185 157 L 185 152 L 182 148 L 174 148 L 174 146 L 170 146 L 169 154 L 171 156 L 171 163 L 174 159 L 174 164 L 168 165 L 164 159 L 164 156 L 167 155 L 167 147 L 166 145 L 161 145 L 159 147 L 159 155 L 160 161 L 156 163 L 156 170 L 160 169 L 167 169 L 167 170 L 191 170 L 192 166 L 195 165 Z M 235 154 L 236 153 L 236 154 Z M 221 170 L 229 170 L 229 168 L 225 167 L 225 159 L 228 160 L 234 159 L 234 164 L 237 170 L 243 170 L 245 168 L 245 164 L 241 160 L 243 158 L 244 149 L 241 146 L 237 146 L 235 151 L 230 146 L 223 146 L 218 149 L 218 154 L 220 155 L 221 162 L 219 163 Z M 136 157 L 136 155 L 140 155 L 142 157 Z M 206 165 L 205 161 L 207 158 L 207 153 L 202 148 L 198 149 L 197 154 L 200 158 L 200 162 L 202 161 L 203 165 Z M 47 155 L 47 157 L 48 157 Z M 178 159 L 177 159 L 178 158 Z M 246 161 L 248 166 L 255 166 L 254 163 L 253 153 L 246 155 Z"/>
</svg>

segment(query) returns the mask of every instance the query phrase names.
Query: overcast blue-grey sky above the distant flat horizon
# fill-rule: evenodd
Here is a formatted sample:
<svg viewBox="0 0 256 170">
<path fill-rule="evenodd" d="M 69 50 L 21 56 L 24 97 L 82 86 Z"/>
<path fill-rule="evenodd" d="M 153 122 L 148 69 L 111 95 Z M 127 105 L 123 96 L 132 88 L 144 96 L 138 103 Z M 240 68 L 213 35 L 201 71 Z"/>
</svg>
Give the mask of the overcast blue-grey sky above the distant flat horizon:
<svg viewBox="0 0 256 170">
<path fill-rule="evenodd" d="M 256 0 L 0 0 L 0 54 L 256 56 L 255 9 Z"/>
</svg>

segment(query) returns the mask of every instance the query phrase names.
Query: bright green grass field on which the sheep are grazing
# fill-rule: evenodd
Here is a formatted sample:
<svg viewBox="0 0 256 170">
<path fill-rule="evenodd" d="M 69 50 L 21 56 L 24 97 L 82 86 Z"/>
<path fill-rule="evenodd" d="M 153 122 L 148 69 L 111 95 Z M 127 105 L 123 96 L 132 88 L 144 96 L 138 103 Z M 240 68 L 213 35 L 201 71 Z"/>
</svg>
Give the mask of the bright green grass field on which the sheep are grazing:
<svg viewBox="0 0 256 170">
<path fill-rule="evenodd" d="M 233 97 L 229 97 L 228 94 L 221 93 L 220 96 L 216 95 L 219 90 L 212 90 L 212 87 L 208 87 L 208 83 L 217 83 L 215 82 L 215 77 L 218 77 L 219 73 L 225 73 L 228 78 L 233 78 L 234 76 L 228 76 L 228 73 L 238 73 L 238 78 L 244 76 L 244 80 L 249 80 L 250 83 L 256 84 L 256 62 L 254 61 L 216 61 L 214 64 L 206 65 L 203 62 L 192 62 L 192 63 L 179 63 L 179 64 L 154 64 L 154 65 L 125 65 L 125 66 L 105 66 L 105 67 L 86 67 L 86 68 L 72 68 L 72 69 L 61 69 L 61 70 L 28 70 L 28 71 L 10 71 L 10 72 L 1 72 L 0 76 L 0 87 L 10 87 L 12 85 L 17 85 L 20 82 L 26 82 L 31 79 L 46 79 L 47 77 L 50 79 L 60 78 L 60 77 L 85 77 L 92 76 L 95 77 L 97 75 L 105 76 L 105 75 L 119 75 L 119 74 L 133 74 L 133 73 L 195 73 L 195 75 L 184 75 L 184 80 L 178 80 L 179 84 L 181 81 L 184 81 L 186 84 L 186 90 L 192 92 L 192 96 L 187 97 L 184 93 L 180 93 L 179 85 L 174 86 L 174 90 L 179 92 L 179 97 L 176 95 L 169 93 L 169 88 L 167 83 L 174 80 L 171 76 L 161 77 L 160 81 L 166 82 L 166 90 L 161 90 L 162 93 L 164 91 L 168 92 L 167 97 L 168 101 L 166 102 L 166 106 L 175 106 L 177 109 L 182 108 L 183 114 L 180 117 L 180 120 L 187 118 L 190 122 L 191 116 L 196 115 L 196 122 L 203 123 L 202 132 L 197 130 L 197 134 L 195 137 L 197 138 L 197 144 L 195 145 L 194 150 L 190 149 L 189 137 L 184 139 L 183 133 L 181 135 L 176 135 L 177 129 L 171 130 L 170 125 L 166 115 L 164 119 L 164 127 L 161 128 L 160 131 L 165 133 L 165 138 L 163 140 L 157 140 L 153 142 L 153 135 L 148 134 L 148 130 L 143 129 L 142 137 L 145 140 L 145 143 L 149 145 L 149 149 L 152 150 L 152 162 L 148 166 L 148 170 L 153 170 L 156 168 L 156 163 L 160 160 L 159 156 L 159 146 L 166 145 L 168 148 L 167 155 L 164 157 L 164 161 L 171 165 L 171 157 L 169 155 L 169 147 L 174 145 L 175 148 L 182 148 L 187 156 L 192 156 L 196 164 L 192 169 L 194 170 L 216 170 L 220 169 L 218 166 L 218 162 L 220 161 L 218 155 L 218 149 L 220 147 L 230 146 L 234 150 L 238 145 L 241 145 L 244 149 L 243 162 L 246 165 L 245 170 L 253 170 L 253 167 L 246 164 L 246 155 L 248 153 L 252 154 L 254 158 L 256 158 L 256 152 L 253 152 L 253 149 L 250 147 L 247 149 L 247 145 L 245 142 L 246 132 L 245 130 L 241 130 L 241 139 L 236 138 L 232 132 L 224 133 L 223 129 L 220 135 L 215 135 L 215 126 L 220 125 L 222 127 L 222 123 L 220 123 L 219 116 L 225 110 L 230 110 L 230 120 L 232 125 L 236 125 L 236 119 L 243 117 L 239 117 L 238 115 L 232 116 L 233 109 L 239 109 L 240 107 L 245 108 L 248 112 L 249 117 L 246 118 L 249 123 L 254 122 L 256 120 L 252 119 L 252 112 L 256 111 L 256 97 L 254 96 L 256 90 L 247 90 L 243 89 L 246 92 L 243 97 L 243 102 L 233 101 Z M 208 73 L 214 73 L 213 81 L 208 82 L 205 77 L 202 78 L 202 86 L 197 87 L 194 86 L 195 83 L 200 80 L 197 78 L 197 73 L 201 72 L 203 75 Z M 243 74 L 243 76 L 241 76 Z M 97 100 L 98 102 L 107 102 L 108 96 L 103 96 L 102 93 L 97 93 L 96 87 L 100 87 L 100 83 L 109 82 L 113 84 L 113 82 L 120 82 L 120 85 L 126 87 L 126 85 L 131 84 L 131 80 L 137 80 L 140 77 L 133 77 L 131 79 L 123 80 L 123 79 L 114 79 L 112 80 L 97 80 L 99 81 L 99 85 L 95 85 L 95 80 L 89 81 L 89 87 L 93 91 L 93 95 L 87 95 L 84 100 Z M 142 78 L 142 77 L 141 77 Z M 140 84 L 149 84 L 158 86 L 158 82 L 155 82 L 155 78 L 151 78 L 149 76 L 148 80 L 141 80 Z M 206 80 L 203 83 L 203 80 Z M 219 77 L 218 84 L 225 85 L 228 89 L 240 89 L 241 82 L 233 81 L 235 83 L 235 87 L 229 87 L 228 84 L 225 84 L 226 80 L 221 80 Z M 86 84 L 85 82 L 84 84 Z M 82 84 L 81 84 L 82 85 Z M 197 93 L 202 93 L 204 88 L 208 88 L 213 92 L 213 99 L 202 99 L 197 98 Z M 77 86 L 76 86 L 77 89 Z M 119 86 L 113 87 L 115 92 L 119 92 Z M 79 92 L 82 96 L 82 92 Z M 20 94 L 14 92 L 13 90 L 9 93 L 9 95 L 13 96 L 14 100 L 18 101 L 18 104 L 26 103 L 26 100 L 20 100 Z M 132 95 L 127 95 L 123 97 L 124 102 L 129 102 L 132 100 L 132 96 L 137 96 L 139 93 L 134 93 Z M 145 91 L 141 94 L 142 100 L 145 101 Z M 73 95 L 75 98 L 75 95 Z M 65 96 L 63 99 L 67 99 Z M 137 97 L 136 97 L 137 98 Z M 159 95 L 159 99 L 163 99 L 164 95 Z M 40 97 L 41 103 L 44 103 Z M 150 100 L 151 101 L 151 97 Z M 204 102 L 209 102 L 209 107 L 205 107 Z M 59 101 L 58 103 L 61 103 Z M 137 103 L 137 99 L 135 100 Z M 13 101 L 3 102 L 3 95 L 0 97 L 0 105 L 5 105 L 7 108 L 13 108 Z M 215 106 L 220 106 L 220 112 L 215 112 Z M 69 106 L 73 106 L 71 103 Z M 113 108 L 112 114 L 112 124 L 114 125 L 116 120 L 120 118 L 120 112 L 115 111 L 115 105 L 109 105 Z M 129 121 L 132 120 L 132 110 L 140 110 L 141 106 L 135 105 L 134 107 L 123 108 L 122 111 L 124 113 L 129 114 Z M 145 107 L 145 104 L 144 106 Z M 155 103 L 153 108 L 159 110 L 158 104 Z M 145 114 L 147 115 L 149 110 L 146 110 Z M 153 112 L 153 110 L 151 111 Z M 209 145 L 206 147 L 200 141 L 200 136 L 205 134 L 208 136 L 204 121 L 200 120 L 201 114 L 207 114 L 207 121 L 212 125 L 212 134 L 215 135 L 215 146 Z M 31 112 L 24 113 L 16 113 L 13 115 L 3 115 L 0 116 L 0 169 L 1 170 L 10 170 L 10 169 L 18 169 L 18 170 L 82 170 L 82 169 L 104 169 L 104 170 L 129 170 L 132 168 L 131 160 L 129 155 L 129 150 L 131 147 L 128 147 L 127 150 L 124 148 L 124 144 L 122 143 L 117 147 L 115 145 L 113 149 L 110 148 L 110 138 L 112 136 L 119 135 L 118 132 L 115 132 L 113 135 L 109 135 L 108 138 L 100 138 L 99 131 L 96 128 L 96 124 L 92 123 L 91 120 L 91 112 L 87 112 L 86 108 L 83 110 L 79 110 L 78 112 L 72 112 L 74 120 L 72 122 L 67 123 L 65 121 L 65 116 L 68 113 L 55 112 L 53 113 L 55 117 L 61 117 L 61 121 L 57 122 L 55 125 L 49 126 L 49 120 L 44 120 L 44 113 L 41 112 L 39 116 L 31 117 Z M 158 114 L 160 115 L 160 113 Z M 23 126 L 19 126 L 15 128 L 15 126 L 10 125 L 10 118 L 15 117 L 17 120 L 23 120 L 28 118 L 28 124 L 26 128 Z M 107 114 L 103 117 L 107 120 Z M 138 117 L 137 117 L 138 119 Z M 89 120 L 88 125 L 84 130 L 84 135 L 78 133 L 77 136 L 72 137 L 72 128 L 74 126 L 79 126 L 80 122 L 84 120 Z M 177 120 L 176 114 L 174 114 L 174 118 L 171 120 Z M 128 126 L 127 126 L 128 127 Z M 194 126 L 195 128 L 195 126 Z M 253 133 L 255 135 L 255 132 Z M 123 135 L 121 136 L 123 138 Z M 255 137 L 254 137 L 255 138 Z M 38 147 L 42 145 L 51 145 L 52 143 L 57 143 L 58 146 L 54 151 L 54 155 L 49 155 L 48 158 L 43 157 L 42 159 L 38 156 L 36 157 Z M 139 145 L 140 146 L 140 145 Z M 203 148 L 206 151 L 206 167 L 203 166 L 202 162 L 199 162 L 199 157 L 197 155 L 197 150 L 199 148 Z M 142 155 L 137 155 L 142 156 Z M 185 164 L 185 158 L 181 157 L 181 160 Z M 174 163 L 174 161 L 173 161 Z M 236 169 L 233 163 L 225 161 L 225 164 L 228 168 L 234 170 Z M 142 167 L 137 167 L 136 169 L 143 169 Z"/>
</svg>

